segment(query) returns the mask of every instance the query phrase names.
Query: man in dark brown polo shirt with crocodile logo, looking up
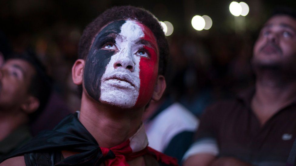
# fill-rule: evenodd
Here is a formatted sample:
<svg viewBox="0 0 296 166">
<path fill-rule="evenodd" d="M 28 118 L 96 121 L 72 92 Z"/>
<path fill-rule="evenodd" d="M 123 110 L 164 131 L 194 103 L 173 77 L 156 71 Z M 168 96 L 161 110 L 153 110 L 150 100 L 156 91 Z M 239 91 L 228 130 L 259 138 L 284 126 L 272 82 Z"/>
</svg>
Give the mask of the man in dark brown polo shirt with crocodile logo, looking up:
<svg viewBox="0 0 296 166">
<path fill-rule="evenodd" d="M 209 107 L 188 165 L 285 165 L 296 138 L 296 14 L 275 12 L 251 60 L 255 88 Z"/>
</svg>

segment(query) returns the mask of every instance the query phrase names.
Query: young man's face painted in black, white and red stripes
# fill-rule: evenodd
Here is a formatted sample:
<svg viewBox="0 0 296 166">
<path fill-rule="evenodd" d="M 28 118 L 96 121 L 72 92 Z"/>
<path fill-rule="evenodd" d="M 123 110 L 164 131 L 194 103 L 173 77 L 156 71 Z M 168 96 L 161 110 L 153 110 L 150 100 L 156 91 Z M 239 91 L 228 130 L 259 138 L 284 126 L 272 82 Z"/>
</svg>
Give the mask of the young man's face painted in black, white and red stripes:
<svg viewBox="0 0 296 166">
<path fill-rule="evenodd" d="M 93 99 L 121 108 L 145 106 L 158 73 L 152 31 L 133 20 L 114 21 L 97 34 L 84 68 L 84 87 Z"/>
</svg>

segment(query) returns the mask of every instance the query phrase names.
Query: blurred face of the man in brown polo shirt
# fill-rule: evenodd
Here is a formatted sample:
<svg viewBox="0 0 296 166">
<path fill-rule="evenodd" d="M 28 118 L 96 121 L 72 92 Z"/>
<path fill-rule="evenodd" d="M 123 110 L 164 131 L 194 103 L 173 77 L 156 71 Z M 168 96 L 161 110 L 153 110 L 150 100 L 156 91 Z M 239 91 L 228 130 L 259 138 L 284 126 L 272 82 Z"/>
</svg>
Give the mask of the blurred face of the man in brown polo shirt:
<svg viewBox="0 0 296 166">
<path fill-rule="evenodd" d="M 271 17 L 254 45 L 252 63 L 259 67 L 295 68 L 296 20 L 288 15 Z"/>
</svg>

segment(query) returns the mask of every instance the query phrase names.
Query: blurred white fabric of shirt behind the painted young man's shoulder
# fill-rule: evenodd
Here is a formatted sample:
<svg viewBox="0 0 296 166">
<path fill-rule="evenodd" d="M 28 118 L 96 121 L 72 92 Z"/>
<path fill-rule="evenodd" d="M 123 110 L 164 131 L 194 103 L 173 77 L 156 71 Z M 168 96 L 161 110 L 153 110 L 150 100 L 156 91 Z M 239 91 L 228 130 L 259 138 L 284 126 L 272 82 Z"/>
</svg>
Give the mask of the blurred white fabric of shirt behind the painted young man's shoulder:
<svg viewBox="0 0 296 166">
<path fill-rule="evenodd" d="M 163 152 L 174 136 L 184 131 L 195 132 L 198 124 L 189 110 L 174 103 L 145 123 L 149 146 Z"/>
</svg>

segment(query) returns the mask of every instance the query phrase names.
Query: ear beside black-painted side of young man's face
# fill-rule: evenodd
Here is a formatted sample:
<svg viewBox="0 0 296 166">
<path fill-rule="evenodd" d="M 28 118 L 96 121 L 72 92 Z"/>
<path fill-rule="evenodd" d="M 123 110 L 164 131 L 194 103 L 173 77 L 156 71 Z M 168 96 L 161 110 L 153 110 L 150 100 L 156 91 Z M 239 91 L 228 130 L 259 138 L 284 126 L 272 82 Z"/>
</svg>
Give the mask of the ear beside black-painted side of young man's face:
<svg viewBox="0 0 296 166">
<path fill-rule="evenodd" d="M 72 67 L 72 79 L 76 85 L 81 85 L 83 80 L 84 60 L 78 59 Z"/>
</svg>

